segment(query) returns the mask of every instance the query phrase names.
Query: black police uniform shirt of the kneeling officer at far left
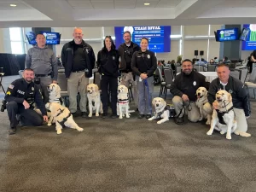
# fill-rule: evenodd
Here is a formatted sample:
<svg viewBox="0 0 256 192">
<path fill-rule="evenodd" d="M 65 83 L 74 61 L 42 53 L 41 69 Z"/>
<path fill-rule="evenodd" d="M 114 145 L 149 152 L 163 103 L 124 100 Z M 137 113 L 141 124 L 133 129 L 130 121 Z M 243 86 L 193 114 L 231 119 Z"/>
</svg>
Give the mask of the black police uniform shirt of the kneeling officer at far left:
<svg viewBox="0 0 256 192">
<path fill-rule="evenodd" d="M 25 79 L 16 79 L 14 82 L 9 84 L 8 89 L 6 90 L 5 95 L 6 102 L 17 102 L 22 104 L 24 100 L 29 104 L 36 102 L 38 108 L 42 112 L 43 115 L 46 115 L 46 109 L 44 107 L 43 97 L 33 82 L 28 84 Z"/>
</svg>

